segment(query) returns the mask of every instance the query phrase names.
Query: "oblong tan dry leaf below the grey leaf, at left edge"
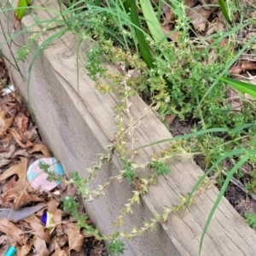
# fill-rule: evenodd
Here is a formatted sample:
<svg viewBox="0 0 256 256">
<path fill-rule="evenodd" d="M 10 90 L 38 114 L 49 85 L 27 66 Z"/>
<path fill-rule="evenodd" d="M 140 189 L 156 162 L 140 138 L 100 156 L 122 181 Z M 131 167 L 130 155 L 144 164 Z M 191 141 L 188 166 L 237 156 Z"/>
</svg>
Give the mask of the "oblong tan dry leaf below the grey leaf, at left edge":
<svg viewBox="0 0 256 256">
<path fill-rule="evenodd" d="M 27 237 L 23 232 L 11 223 L 7 218 L 0 219 L 0 230 L 6 235 L 13 238 L 20 245 L 26 245 Z"/>
</svg>

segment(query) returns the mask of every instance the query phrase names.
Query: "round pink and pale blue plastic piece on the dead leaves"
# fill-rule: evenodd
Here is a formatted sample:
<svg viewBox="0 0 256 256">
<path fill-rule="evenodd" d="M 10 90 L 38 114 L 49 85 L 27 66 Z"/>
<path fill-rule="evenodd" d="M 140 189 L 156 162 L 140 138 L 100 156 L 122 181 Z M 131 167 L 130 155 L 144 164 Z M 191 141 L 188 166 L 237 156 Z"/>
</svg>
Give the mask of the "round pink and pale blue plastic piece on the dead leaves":
<svg viewBox="0 0 256 256">
<path fill-rule="evenodd" d="M 48 174 L 46 174 L 40 167 L 38 166 L 39 162 L 42 161 L 45 164 L 49 165 L 49 171 L 54 172 L 59 176 L 63 176 L 63 169 L 61 164 L 55 159 L 55 157 L 51 158 L 42 158 L 36 160 L 30 165 L 27 169 L 26 177 L 29 183 L 31 183 L 33 189 L 50 191 L 58 186 L 61 182 L 49 181 Z"/>
</svg>

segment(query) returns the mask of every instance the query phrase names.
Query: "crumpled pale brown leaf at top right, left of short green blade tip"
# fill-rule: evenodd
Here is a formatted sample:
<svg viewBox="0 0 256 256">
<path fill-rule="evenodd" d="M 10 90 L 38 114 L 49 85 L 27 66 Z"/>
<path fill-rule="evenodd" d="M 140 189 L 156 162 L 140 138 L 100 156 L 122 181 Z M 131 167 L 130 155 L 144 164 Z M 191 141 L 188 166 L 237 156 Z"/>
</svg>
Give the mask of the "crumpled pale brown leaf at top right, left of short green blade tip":
<svg viewBox="0 0 256 256">
<path fill-rule="evenodd" d="M 187 15 L 189 16 L 195 30 L 199 32 L 204 32 L 207 27 L 207 19 L 212 14 L 212 10 L 204 9 L 201 5 L 197 5 L 192 9 L 187 10 Z"/>
</svg>

